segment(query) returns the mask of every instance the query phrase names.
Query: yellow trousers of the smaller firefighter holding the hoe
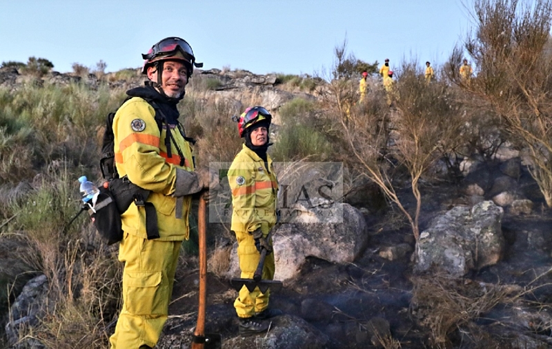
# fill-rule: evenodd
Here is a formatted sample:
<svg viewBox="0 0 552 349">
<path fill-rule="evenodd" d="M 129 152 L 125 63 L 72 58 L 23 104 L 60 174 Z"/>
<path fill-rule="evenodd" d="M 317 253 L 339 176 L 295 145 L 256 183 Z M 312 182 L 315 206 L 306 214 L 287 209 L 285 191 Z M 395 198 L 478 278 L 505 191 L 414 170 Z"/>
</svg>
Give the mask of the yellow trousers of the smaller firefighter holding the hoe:
<svg viewBox="0 0 552 349">
<path fill-rule="evenodd" d="M 255 247 L 253 235 L 243 231 L 236 231 L 237 238 L 237 256 L 239 258 L 239 268 L 242 271 L 243 279 L 253 279 L 253 274 L 257 270 L 257 265 L 261 254 Z M 272 241 L 270 241 L 272 244 Z M 264 260 L 262 279 L 274 279 L 274 253 L 266 256 Z M 255 313 L 260 313 L 268 307 L 268 297 L 270 290 L 261 293 L 259 288 L 249 292 L 246 286 L 239 290 L 239 296 L 234 302 L 234 308 L 238 317 L 252 317 Z"/>
</svg>

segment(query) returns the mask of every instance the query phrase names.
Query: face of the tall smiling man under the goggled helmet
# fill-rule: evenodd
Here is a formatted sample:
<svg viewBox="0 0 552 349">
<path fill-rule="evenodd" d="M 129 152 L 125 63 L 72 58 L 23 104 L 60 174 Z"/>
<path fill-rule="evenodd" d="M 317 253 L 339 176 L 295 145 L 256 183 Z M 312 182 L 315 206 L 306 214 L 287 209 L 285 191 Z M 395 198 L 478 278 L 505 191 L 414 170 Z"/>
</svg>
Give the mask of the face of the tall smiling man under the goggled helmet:
<svg viewBox="0 0 552 349">
<path fill-rule="evenodd" d="M 148 78 L 157 82 L 159 72 L 155 67 L 148 67 Z M 186 89 L 188 83 L 188 70 L 186 65 L 179 61 L 164 61 L 161 75 L 161 88 L 168 97 L 179 98 Z"/>
</svg>

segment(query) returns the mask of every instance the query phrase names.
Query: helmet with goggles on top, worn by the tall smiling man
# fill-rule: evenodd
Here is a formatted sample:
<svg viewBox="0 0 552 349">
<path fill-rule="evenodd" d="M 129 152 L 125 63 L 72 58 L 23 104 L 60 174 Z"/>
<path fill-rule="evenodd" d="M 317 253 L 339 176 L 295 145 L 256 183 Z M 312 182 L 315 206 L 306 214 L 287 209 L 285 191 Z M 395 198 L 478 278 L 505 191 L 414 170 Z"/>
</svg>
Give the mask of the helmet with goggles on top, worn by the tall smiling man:
<svg viewBox="0 0 552 349">
<path fill-rule="evenodd" d="M 157 61 L 175 59 L 181 61 L 188 68 L 188 77 L 192 75 L 193 67 L 203 67 L 203 63 L 195 63 L 194 52 L 189 43 L 184 39 L 171 36 L 153 45 L 147 54 L 142 54 L 144 65 L 142 74 L 146 74 L 148 67 Z"/>
</svg>

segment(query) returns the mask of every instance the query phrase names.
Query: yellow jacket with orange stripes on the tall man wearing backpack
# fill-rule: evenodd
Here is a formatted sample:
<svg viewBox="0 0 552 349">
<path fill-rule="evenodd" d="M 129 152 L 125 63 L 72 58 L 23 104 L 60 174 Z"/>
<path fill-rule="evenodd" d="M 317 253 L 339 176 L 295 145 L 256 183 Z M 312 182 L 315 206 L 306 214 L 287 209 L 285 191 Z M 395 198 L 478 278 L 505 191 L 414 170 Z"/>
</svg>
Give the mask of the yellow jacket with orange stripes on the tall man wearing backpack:
<svg viewBox="0 0 552 349">
<path fill-rule="evenodd" d="M 140 130 L 145 126 L 143 130 Z M 175 216 L 175 182 L 177 169 L 193 171 L 192 149 L 175 125 L 171 134 L 184 155 L 184 166 L 173 142 L 170 142 L 172 157 L 168 158 L 165 146 L 166 125 L 161 134 L 155 121 L 155 109 L 143 98 L 126 101 L 117 110 L 113 119 L 115 135 L 115 162 L 119 176 L 128 176 L 130 182 L 152 191 L 148 202 L 157 211 L 159 240 L 176 241 L 188 239 L 188 213 L 191 196 L 184 196 L 181 219 Z M 146 211 L 144 207 L 131 204 L 121 215 L 123 231 L 146 238 Z"/>
</svg>

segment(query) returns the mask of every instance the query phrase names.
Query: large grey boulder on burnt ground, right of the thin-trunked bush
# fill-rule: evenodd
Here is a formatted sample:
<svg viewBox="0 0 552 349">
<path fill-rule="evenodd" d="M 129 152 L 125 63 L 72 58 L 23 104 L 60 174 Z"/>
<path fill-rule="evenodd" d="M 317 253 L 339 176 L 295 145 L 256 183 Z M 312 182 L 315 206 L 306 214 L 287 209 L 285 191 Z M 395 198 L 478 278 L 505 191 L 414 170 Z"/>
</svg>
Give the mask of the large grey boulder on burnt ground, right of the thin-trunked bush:
<svg viewBox="0 0 552 349">
<path fill-rule="evenodd" d="M 502 257 L 501 230 L 504 210 L 492 201 L 469 207 L 454 207 L 433 220 L 420 234 L 416 271 L 435 265 L 453 277 L 496 264 Z"/>
</svg>

